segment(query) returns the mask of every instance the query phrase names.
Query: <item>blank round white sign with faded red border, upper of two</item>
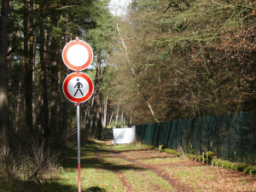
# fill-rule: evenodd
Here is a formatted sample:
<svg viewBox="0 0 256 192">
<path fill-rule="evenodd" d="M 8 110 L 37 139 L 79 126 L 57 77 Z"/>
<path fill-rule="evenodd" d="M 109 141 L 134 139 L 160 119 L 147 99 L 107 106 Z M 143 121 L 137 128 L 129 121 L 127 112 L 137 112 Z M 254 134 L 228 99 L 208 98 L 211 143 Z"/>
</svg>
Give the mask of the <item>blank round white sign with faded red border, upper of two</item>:
<svg viewBox="0 0 256 192">
<path fill-rule="evenodd" d="M 92 59 L 93 52 L 90 45 L 79 38 L 67 43 L 62 50 L 62 60 L 65 65 L 75 71 L 89 67 Z"/>
</svg>

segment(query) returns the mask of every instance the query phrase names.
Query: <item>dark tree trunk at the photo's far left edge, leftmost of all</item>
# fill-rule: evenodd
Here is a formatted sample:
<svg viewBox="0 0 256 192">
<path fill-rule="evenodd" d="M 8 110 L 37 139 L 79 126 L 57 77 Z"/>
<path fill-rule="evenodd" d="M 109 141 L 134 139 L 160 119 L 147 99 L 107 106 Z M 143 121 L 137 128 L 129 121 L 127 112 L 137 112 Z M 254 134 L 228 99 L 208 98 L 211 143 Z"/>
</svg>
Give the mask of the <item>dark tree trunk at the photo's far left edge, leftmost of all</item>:
<svg viewBox="0 0 256 192">
<path fill-rule="evenodd" d="M 8 143 L 9 135 L 9 101 L 8 101 L 8 31 L 9 0 L 2 0 L 0 21 L 0 144 Z"/>
</svg>

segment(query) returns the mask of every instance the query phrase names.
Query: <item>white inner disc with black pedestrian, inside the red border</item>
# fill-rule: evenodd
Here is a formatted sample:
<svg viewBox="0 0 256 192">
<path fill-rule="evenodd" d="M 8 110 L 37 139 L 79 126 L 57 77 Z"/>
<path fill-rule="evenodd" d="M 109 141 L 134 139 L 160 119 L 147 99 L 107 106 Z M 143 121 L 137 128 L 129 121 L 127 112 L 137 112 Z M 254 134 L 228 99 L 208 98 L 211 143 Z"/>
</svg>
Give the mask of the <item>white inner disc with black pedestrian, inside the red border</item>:
<svg viewBox="0 0 256 192">
<path fill-rule="evenodd" d="M 84 78 L 74 77 L 68 82 L 67 91 L 74 98 L 80 99 L 87 95 L 89 84 Z"/>
</svg>

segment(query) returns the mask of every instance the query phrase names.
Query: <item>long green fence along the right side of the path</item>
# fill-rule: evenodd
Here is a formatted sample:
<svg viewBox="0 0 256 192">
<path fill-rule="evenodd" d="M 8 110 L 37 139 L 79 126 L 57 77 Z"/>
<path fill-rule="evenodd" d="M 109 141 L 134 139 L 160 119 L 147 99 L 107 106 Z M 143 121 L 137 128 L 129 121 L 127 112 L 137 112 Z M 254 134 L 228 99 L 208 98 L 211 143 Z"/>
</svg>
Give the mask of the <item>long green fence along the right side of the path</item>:
<svg viewBox="0 0 256 192">
<path fill-rule="evenodd" d="M 182 146 L 190 153 L 212 151 L 219 159 L 256 165 L 256 111 L 136 125 L 146 144 Z"/>
</svg>

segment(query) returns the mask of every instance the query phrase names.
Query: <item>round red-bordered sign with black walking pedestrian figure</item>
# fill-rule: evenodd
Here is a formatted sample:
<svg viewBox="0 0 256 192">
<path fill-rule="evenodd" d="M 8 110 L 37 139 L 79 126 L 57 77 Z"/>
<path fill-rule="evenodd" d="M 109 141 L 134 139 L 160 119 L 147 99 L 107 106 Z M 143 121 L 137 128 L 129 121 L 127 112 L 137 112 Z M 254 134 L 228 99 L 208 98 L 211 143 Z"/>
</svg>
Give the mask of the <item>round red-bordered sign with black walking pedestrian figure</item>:
<svg viewBox="0 0 256 192">
<path fill-rule="evenodd" d="M 71 73 L 64 80 L 62 90 L 71 102 L 86 102 L 93 92 L 93 83 L 84 73 Z"/>
</svg>

